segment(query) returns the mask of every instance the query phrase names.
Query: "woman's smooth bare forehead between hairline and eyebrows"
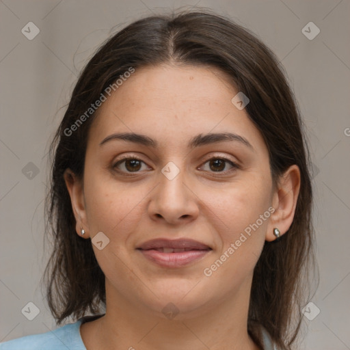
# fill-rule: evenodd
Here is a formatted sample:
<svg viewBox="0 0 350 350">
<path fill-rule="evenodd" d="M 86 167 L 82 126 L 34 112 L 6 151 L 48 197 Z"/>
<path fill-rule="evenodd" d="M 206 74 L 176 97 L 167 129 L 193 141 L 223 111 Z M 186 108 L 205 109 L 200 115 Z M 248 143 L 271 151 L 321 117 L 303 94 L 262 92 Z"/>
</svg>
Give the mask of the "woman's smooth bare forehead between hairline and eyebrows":
<svg viewBox="0 0 350 350">
<path fill-rule="evenodd" d="M 261 146 L 262 137 L 246 111 L 231 102 L 237 93 L 216 68 L 140 68 L 99 107 L 90 137 L 100 142 L 115 132 L 147 133 L 169 144 L 198 133 L 232 131 Z"/>
</svg>

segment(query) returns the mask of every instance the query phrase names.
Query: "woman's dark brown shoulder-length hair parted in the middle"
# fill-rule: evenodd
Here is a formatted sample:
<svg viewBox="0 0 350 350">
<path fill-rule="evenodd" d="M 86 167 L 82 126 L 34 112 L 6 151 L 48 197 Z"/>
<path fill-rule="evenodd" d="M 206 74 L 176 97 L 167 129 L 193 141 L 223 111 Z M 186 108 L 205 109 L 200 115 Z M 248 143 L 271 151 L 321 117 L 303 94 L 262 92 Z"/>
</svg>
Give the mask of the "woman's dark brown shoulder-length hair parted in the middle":
<svg viewBox="0 0 350 350">
<path fill-rule="evenodd" d="M 53 253 L 46 266 L 47 299 L 57 324 L 105 307 L 105 275 L 90 240 L 75 232 L 75 217 L 64 183 L 70 168 L 83 177 L 90 125 L 87 118 L 72 135 L 65 131 L 130 67 L 168 62 L 219 68 L 250 98 L 245 107 L 269 150 L 273 182 L 291 165 L 301 172 L 295 218 L 278 243 L 265 243 L 254 269 L 248 332 L 261 344 L 265 327 L 281 349 L 291 349 L 301 325 L 308 263 L 314 266 L 311 221 L 312 186 L 303 125 L 275 55 L 250 31 L 211 12 L 150 16 L 109 38 L 87 63 L 51 144 L 51 189 L 46 224 L 53 231 Z"/>
</svg>

